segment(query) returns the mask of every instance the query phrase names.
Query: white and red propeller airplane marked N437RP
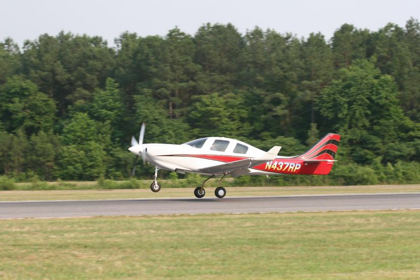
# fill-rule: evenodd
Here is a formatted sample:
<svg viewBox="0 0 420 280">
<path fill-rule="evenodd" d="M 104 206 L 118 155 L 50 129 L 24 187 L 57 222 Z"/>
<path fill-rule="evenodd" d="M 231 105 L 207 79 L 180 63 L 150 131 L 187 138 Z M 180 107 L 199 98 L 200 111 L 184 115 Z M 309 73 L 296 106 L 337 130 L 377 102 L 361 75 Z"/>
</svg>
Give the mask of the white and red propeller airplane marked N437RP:
<svg viewBox="0 0 420 280">
<path fill-rule="evenodd" d="M 161 188 L 157 182 L 157 172 L 166 170 L 180 174 L 195 173 L 210 176 L 194 189 L 197 198 L 206 194 L 204 184 L 215 176 L 221 176 L 219 186 L 214 194 L 217 198 L 226 195 L 221 186 L 225 176 L 242 175 L 327 175 L 336 160 L 339 134 L 327 133 L 307 152 L 297 156 L 278 156 L 281 146 L 274 146 L 268 152 L 248 145 L 236 139 L 225 137 L 205 137 L 184 144 L 143 144 L 145 123 L 142 124 L 138 142 L 131 137 L 128 150 L 136 155 L 131 176 L 135 174 L 138 158 L 155 166 L 155 175 L 150 189 L 158 192 Z"/>
</svg>

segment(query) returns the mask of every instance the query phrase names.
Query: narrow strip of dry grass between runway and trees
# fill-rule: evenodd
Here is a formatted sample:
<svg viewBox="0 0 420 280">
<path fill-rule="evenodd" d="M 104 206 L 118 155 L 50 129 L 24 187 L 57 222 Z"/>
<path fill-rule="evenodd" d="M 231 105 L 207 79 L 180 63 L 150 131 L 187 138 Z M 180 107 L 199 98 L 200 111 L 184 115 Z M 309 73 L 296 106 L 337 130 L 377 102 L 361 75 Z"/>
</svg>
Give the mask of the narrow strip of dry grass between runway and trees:
<svg viewBox="0 0 420 280">
<path fill-rule="evenodd" d="M 206 188 L 214 197 L 214 188 Z M 290 195 L 331 193 L 420 192 L 420 185 L 324 186 L 324 187 L 227 187 L 227 197 L 247 195 Z M 165 188 L 155 193 L 147 189 L 115 190 L 6 190 L 0 201 L 21 200 L 103 200 L 138 198 L 193 198 L 193 188 Z"/>
</svg>

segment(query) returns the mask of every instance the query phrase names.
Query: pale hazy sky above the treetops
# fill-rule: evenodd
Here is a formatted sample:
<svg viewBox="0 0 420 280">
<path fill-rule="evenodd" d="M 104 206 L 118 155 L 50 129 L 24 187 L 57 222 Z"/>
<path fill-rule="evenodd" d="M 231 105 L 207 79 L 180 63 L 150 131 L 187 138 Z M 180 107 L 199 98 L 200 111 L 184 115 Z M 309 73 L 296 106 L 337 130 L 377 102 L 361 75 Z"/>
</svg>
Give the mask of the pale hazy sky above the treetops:
<svg viewBox="0 0 420 280">
<path fill-rule="evenodd" d="M 0 41 L 12 37 L 20 45 L 61 30 L 114 45 L 124 31 L 164 36 L 177 25 L 193 35 L 206 22 L 231 22 L 241 33 L 256 25 L 298 37 L 321 32 L 329 40 L 343 23 L 376 31 L 387 22 L 420 20 L 418 0 L 0 0 L 0 7 Z"/>
</svg>

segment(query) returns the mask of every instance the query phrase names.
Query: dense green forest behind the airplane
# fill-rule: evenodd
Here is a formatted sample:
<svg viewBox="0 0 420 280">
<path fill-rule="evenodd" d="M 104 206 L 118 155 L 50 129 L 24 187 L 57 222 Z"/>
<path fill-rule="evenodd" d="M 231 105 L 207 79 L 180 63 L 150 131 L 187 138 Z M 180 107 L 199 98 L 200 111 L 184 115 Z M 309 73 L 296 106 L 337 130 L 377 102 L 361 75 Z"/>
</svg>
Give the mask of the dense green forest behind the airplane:
<svg viewBox="0 0 420 280">
<path fill-rule="evenodd" d="M 145 143 L 225 136 L 286 156 L 340 133 L 335 183 L 418 183 L 420 24 L 343 24 L 330 40 L 205 24 L 112 47 L 65 32 L 0 42 L 0 175 L 129 178 L 142 122 Z"/>
</svg>

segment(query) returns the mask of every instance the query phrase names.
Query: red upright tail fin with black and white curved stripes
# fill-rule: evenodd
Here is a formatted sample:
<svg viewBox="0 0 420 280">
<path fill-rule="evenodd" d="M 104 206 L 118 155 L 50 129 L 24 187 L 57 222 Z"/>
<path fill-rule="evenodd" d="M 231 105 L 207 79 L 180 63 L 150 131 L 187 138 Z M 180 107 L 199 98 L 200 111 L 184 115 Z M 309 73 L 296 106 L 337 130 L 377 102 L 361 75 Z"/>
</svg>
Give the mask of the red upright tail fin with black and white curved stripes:
<svg viewBox="0 0 420 280">
<path fill-rule="evenodd" d="M 317 144 L 306 153 L 297 158 L 307 160 L 333 160 L 339 146 L 341 136 L 339 134 L 328 133 Z"/>
</svg>

